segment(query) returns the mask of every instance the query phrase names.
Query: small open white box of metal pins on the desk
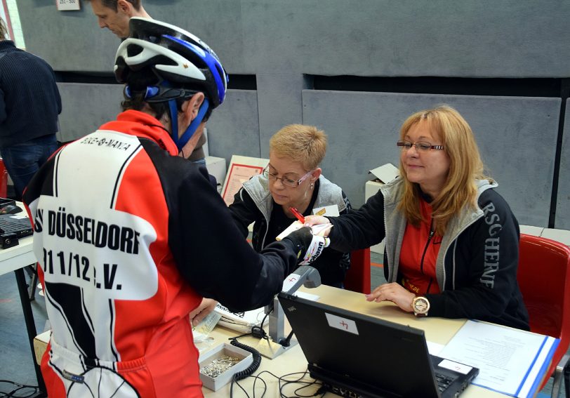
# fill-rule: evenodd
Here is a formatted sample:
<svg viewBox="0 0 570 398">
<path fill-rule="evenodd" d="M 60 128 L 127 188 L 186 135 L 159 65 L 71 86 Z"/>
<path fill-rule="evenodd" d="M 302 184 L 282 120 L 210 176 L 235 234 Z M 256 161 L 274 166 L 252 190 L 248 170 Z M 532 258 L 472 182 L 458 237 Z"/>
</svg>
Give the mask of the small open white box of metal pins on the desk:
<svg viewBox="0 0 570 398">
<path fill-rule="evenodd" d="M 208 366 L 212 361 L 225 356 L 238 358 L 239 362 L 215 378 L 206 376 L 202 373 L 204 366 Z M 213 391 L 218 391 L 221 387 L 232 381 L 235 373 L 241 372 L 253 364 L 253 355 L 251 352 L 235 347 L 234 345 L 222 343 L 214 347 L 212 350 L 204 352 L 204 354 L 200 354 L 198 362 L 200 366 L 200 380 L 204 384 L 204 387 L 208 387 Z"/>
</svg>

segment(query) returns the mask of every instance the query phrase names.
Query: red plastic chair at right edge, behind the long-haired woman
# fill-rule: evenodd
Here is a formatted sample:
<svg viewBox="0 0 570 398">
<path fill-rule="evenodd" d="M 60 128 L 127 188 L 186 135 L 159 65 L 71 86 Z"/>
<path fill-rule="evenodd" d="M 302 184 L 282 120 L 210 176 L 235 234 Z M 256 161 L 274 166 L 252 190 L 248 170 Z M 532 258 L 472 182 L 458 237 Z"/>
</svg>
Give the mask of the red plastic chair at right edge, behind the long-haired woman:
<svg viewBox="0 0 570 398">
<path fill-rule="evenodd" d="M 569 397 L 570 248 L 558 241 L 521 234 L 517 280 L 529 310 L 531 331 L 560 339 L 547 376 L 558 397 L 564 373 Z M 541 389 L 548 382 L 545 377 Z"/>
</svg>

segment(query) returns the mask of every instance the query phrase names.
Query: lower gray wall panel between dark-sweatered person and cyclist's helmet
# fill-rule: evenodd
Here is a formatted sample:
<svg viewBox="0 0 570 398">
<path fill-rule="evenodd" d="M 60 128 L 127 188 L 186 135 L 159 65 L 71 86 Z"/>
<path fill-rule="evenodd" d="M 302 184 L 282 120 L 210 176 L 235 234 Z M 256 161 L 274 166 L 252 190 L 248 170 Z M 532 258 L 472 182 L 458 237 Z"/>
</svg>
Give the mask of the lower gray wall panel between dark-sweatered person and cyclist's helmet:
<svg viewBox="0 0 570 398">
<path fill-rule="evenodd" d="M 123 86 L 119 84 L 58 83 L 58 88 L 62 102 L 58 140 L 62 142 L 92 133 L 121 112 Z"/>
</svg>

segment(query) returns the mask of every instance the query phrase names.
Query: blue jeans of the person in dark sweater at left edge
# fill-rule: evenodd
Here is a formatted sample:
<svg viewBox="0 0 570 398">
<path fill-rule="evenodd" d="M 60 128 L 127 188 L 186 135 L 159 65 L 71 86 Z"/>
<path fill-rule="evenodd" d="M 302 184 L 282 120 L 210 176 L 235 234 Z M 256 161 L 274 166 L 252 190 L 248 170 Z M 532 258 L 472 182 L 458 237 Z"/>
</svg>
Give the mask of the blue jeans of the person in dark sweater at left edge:
<svg viewBox="0 0 570 398">
<path fill-rule="evenodd" d="M 29 180 L 57 149 L 58 140 L 55 134 L 2 148 L 2 159 L 14 182 L 16 199 L 22 199 L 22 192 Z"/>
</svg>

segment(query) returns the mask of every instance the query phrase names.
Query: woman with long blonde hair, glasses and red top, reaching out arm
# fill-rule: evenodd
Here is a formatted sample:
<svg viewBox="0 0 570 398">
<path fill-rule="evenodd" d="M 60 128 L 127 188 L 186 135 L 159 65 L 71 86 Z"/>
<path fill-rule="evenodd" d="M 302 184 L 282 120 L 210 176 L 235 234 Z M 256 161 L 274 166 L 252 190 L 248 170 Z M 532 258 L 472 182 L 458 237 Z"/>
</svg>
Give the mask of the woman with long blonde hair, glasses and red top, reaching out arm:
<svg viewBox="0 0 570 398">
<path fill-rule="evenodd" d="M 483 173 L 472 130 L 452 107 L 412 114 L 400 130 L 400 176 L 332 223 L 340 251 L 385 241 L 386 284 L 366 296 L 417 316 L 529 329 L 517 284 L 519 225 Z"/>
</svg>

